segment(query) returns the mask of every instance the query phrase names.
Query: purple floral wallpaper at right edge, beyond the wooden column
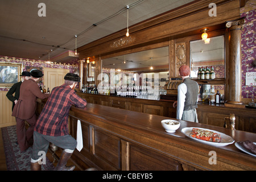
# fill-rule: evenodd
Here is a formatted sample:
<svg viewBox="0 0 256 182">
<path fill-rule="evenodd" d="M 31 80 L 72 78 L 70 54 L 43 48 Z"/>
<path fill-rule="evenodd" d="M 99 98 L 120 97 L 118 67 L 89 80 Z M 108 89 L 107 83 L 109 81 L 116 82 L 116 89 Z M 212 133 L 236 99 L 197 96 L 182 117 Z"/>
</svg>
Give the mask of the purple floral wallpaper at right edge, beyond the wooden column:
<svg viewBox="0 0 256 182">
<path fill-rule="evenodd" d="M 241 9 L 241 17 L 245 17 L 245 24 L 242 29 L 242 98 L 251 98 L 254 94 L 256 98 L 256 86 L 245 85 L 246 72 L 256 72 L 253 64 L 255 60 L 255 30 L 256 30 L 256 1 L 248 1 L 246 6 Z"/>
</svg>

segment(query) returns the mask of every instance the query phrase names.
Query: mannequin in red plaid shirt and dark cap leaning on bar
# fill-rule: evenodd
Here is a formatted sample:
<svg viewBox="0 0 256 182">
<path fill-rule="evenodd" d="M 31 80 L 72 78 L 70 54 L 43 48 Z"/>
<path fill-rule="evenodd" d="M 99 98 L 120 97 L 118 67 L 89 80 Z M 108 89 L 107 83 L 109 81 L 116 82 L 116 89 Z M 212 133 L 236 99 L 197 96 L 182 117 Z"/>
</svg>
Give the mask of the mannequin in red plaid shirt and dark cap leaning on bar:
<svg viewBox="0 0 256 182">
<path fill-rule="evenodd" d="M 67 73 L 65 83 L 52 89 L 51 95 L 36 122 L 34 129 L 34 144 L 31 158 L 31 170 L 41 169 L 40 151 L 45 154 L 48 151 L 49 142 L 63 148 L 56 171 L 72 171 L 75 166 L 66 167 L 68 159 L 77 146 L 76 140 L 69 135 L 68 113 L 72 105 L 84 108 L 86 100 L 77 96 L 75 87 L 80 82 L 80 77 L 73 73 Z M 41 158 L 40 158 L 41 157 Z"/>
</svg>

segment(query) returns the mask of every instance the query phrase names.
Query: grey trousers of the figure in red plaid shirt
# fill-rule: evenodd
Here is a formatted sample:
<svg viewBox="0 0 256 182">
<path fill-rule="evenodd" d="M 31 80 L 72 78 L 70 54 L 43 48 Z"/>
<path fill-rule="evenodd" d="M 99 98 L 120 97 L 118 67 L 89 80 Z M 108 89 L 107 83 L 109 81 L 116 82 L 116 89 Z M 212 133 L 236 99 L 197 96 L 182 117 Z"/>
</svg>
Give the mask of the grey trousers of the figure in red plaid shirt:
<svg viewBox="0 0 256 182">
<path fill-rule="evenodd" d="M 56 146 L 63 148 L 64 150 L 73 151 L 76 149 L 77 142 L 75 138 L 71 135 L 64 135 L 60 137 L 52 137 L 49 135 L 42 135 L 34 131 L 34 143 L 32 149 L 32 160 L 38 160 L 42 156 L 42 151 L 45 154 L 48 151 L 49 142 L 55 144 Z"/>
</svg>

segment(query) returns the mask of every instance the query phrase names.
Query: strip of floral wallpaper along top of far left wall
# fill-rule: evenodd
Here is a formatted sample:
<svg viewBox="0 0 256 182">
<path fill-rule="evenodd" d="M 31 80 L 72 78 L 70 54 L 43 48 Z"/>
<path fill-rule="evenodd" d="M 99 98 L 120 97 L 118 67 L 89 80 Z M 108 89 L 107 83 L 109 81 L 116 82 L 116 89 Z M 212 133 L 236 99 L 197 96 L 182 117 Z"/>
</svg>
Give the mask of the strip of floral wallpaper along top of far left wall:
<svg viewBox="0 0 256 182">
<path fill-rule="evenodd" d="M 69 69 L 70 73 L 75 73 L 79 69 L 78 61 L 73 61 L 72 64 L 60 64 L 60 63 L 53 63 L 48 64 L 46 61 L 41 60 L 31 60 L 31 59 L 22 59 L 16 57 L 7 57 L 7 56 L 0 56 L 0 62 L 5 63 L 22 63 L 23 71 L 27 71 L 27 68 L 35 67 L 35 68 L 42 68 L 42 72 L 44 68 L 60 68 L 60 69 Z M 8 87 L 0 87 L 0 91 L 8 91 L 10 88 Z"/>
</svg>

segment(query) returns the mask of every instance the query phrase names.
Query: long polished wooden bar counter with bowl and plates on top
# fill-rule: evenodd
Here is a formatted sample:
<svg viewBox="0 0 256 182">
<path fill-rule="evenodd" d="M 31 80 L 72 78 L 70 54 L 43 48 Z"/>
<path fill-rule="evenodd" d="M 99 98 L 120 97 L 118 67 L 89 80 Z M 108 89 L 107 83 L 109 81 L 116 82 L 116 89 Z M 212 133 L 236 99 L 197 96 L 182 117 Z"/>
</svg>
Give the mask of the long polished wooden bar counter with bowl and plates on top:
<svg viewBox="0 0 256 182">
<path fill-rule="evenodd" d="M 38 100 L 40 114 L 46 100 Z M 80 169 L 99 170 L 255 170 L 256 158 L 233 144 L 214 147 L 185 137 L 184 127 L 202 127 L 232 137 L 235 142 L 256 142 L 256 134 L 224 129 L 202 123 L 180 121 L 175 133 L 167 133 L 163 117 L 98 104 L 85 109 L 71 107 L 70 133 L 76 138 L 77 119 L 81 121 L 83 148 L 72 159 Z M 170 118 L 169 118 L 170 119 Z M 216 164 L 210 164 L 212 151 Z"/>
</svg>

